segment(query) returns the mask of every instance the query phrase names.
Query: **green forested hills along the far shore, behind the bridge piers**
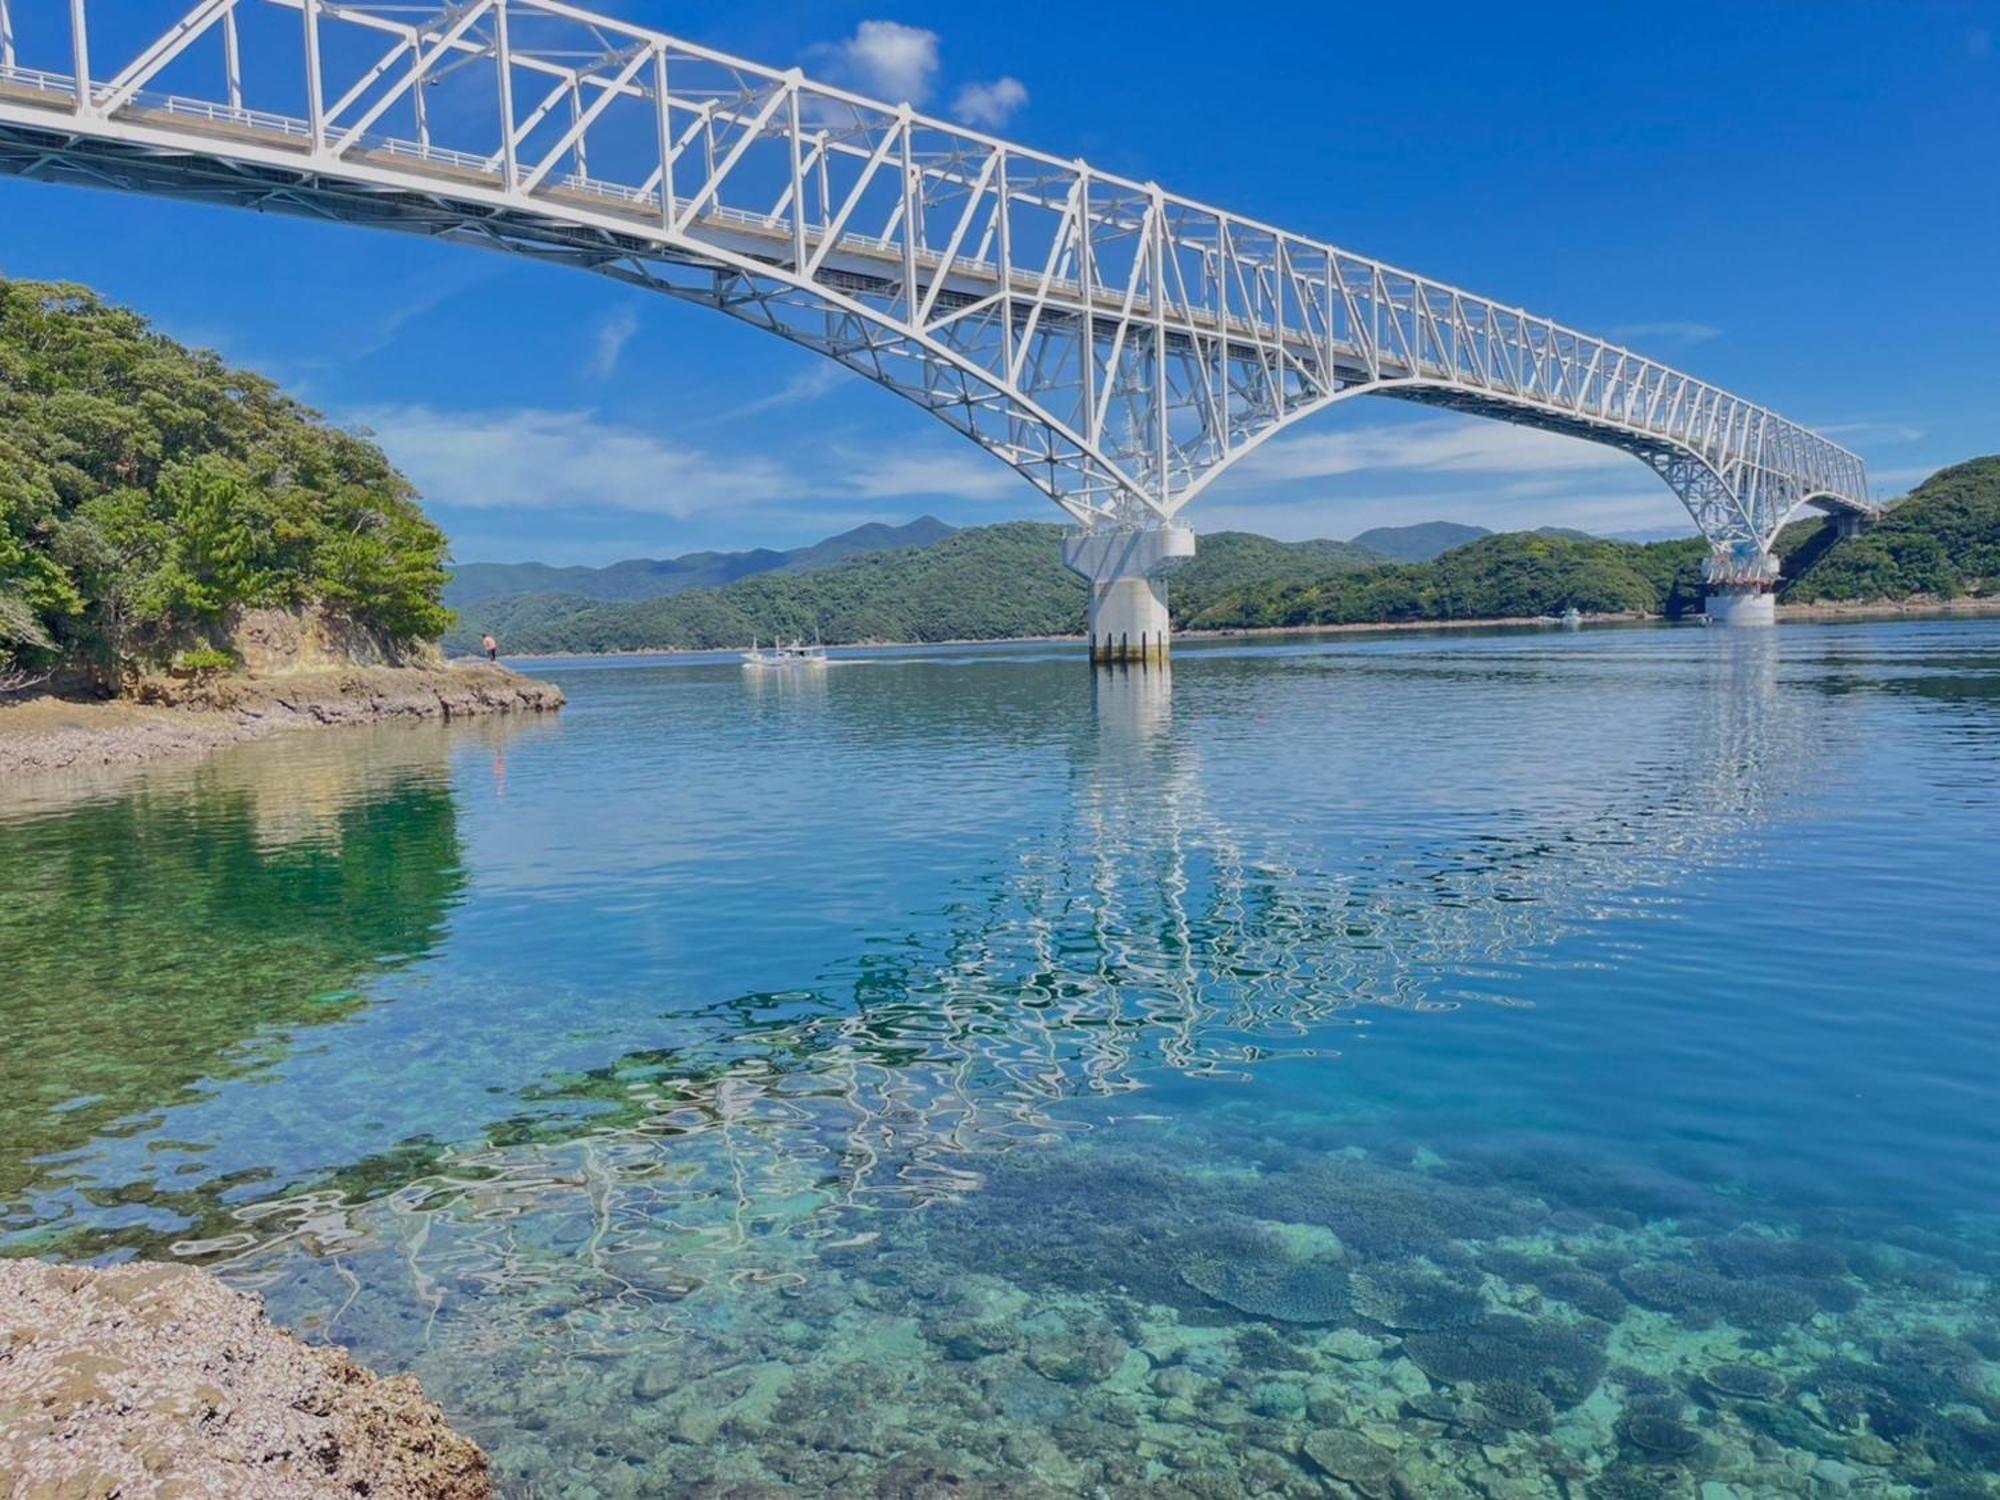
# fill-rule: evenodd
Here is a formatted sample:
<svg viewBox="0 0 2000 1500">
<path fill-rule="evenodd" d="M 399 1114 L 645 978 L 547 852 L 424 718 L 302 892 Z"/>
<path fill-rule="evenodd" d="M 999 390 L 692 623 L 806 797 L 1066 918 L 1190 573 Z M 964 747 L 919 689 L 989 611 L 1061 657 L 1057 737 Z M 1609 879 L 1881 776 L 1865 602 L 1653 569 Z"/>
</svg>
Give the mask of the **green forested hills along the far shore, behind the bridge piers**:
<svg viewBox="0 0 2000 1500">
<path fill-rule="evenodd" d="M 1822 520 L 1788 526 L 1778 552 L 1788 600 L 1996 590 L 2000 458 L 1942 470 L 1866 536 L 1842 540 Z M 1352 542 L 1214 532 L 1170 576 L 1168 604 L 1176 626 L 1214 630 L 1532 618 L 1568 608 L 1676 618 L 1700 610 L 1704 556 L 1698 536 L 1612 542 L 1558 526 L 1480 534 L 1428 562 L 1380 562 Z M 650 600 L 532 594 L 488 606 L 494 634 L 524 654 L 724 648 L 772 636 L 998 640 L 1082 632 L 1084 582 L 1062 566 L 1060 526 L 1012 522 Z"/>
</svg>

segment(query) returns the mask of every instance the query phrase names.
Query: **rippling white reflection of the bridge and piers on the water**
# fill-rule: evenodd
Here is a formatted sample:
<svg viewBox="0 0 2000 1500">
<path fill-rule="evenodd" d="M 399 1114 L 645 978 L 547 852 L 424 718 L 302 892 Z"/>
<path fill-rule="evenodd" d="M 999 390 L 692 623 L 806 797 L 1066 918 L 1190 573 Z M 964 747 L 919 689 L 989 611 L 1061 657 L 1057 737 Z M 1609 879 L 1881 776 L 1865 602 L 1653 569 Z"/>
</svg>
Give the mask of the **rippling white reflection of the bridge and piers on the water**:
<svg viewBox="0 0 2000 1500">
<path fill-rule="evenodd" d="M 1066 826 L 956 890 L 942 936 L 868 942 L 810 990 L 676 1012 L 658 1048 L 552 1080 L 594 1122 L 496 1128 L 506 1144 L 442 1150 L 368 1202 L 336 1178 L 238 1206 L 180 1250 L 294 1316 L 344 1310 L 330 1332 L 364 1342 L 366 1262 L 460 1350 L 558 1328 L 612 1348 L 656 1338 L 676 1306 L 700 1322 L 704 1298 L 804 1284 L 882 1212 L 974 1196 L 1014 1152 L 1116 1136 L 1170 1078 L 1328 1056 L 1384 1014 L 1522 1004 L 1480 980 L 1606 918 L 1658 916 L 1704 868 L 1748 858 L 1772 794 L 1832 744 L 1824 722 L 1806 732 L 1772 646 L 1704 654 L 1672 732 L 1596 746 L 1626 764 L 1592 786 L 1622 796 L 1504 840 L 1382 848 L 1366 874 L 1318 874 L 1282 830 L 1230 828 L 1202 750 L 1172 732 L 1172 674 L 1102 672 Z M 1490 788 L 1514 794 L 1536 800 Z M 1614 942 L 1598 952 L 1616 960 Z M 1338 1094 L 1340 1064 L 1320 1078 Z"/>
</svg>

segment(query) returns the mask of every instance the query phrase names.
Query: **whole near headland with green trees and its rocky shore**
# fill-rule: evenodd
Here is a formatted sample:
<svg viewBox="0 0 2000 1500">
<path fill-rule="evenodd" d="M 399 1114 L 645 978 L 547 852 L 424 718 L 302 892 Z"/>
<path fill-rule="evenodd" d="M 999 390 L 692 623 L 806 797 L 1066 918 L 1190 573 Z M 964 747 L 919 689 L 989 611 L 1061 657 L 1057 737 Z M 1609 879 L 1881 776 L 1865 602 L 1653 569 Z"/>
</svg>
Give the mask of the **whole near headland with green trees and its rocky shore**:
<svg viewBox="0 0 2000 1500">
<path fill-rule="evenodd" d="M 560 708 L 444 660 L 446 554 L 366 434 L 84 286 L 0 280 L 0 774 Z"/>
</svg>

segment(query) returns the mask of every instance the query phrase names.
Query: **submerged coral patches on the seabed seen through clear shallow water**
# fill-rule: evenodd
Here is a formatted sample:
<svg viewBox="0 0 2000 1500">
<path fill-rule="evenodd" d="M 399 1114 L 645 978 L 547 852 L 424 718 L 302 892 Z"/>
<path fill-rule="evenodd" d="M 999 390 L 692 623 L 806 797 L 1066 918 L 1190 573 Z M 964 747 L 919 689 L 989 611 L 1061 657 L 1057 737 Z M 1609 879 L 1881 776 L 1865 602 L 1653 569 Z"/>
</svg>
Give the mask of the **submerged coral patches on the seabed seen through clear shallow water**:
<svg viewBox="0 0 2000 1500">
<path fill-rule="evenodd" d="M 342 1334 L 420 1348 L 502 1478 L 594 1500 L 2000 1500 L 1970 1226 L 1904 1244 L 1566 1158 L 1232 1128 L 1000 1152 L 672 1296 L 550 1250 L 508 1266 L 518 1330 L 420 1302 Z"/>
</svg>

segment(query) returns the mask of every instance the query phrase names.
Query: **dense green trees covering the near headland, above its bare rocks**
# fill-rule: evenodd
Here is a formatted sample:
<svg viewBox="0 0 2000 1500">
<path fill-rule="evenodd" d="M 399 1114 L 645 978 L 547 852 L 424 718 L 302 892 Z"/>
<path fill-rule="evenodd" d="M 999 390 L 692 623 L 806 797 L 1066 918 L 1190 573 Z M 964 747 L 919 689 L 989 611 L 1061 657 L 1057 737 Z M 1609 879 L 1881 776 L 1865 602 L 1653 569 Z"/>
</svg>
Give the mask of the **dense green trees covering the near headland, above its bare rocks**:
<svg viewBox="0 0 2000 1500">
<path fill-rule="evenodd" d="M 444 554 L 366 438 L 82 286 L 0 280 L 0 672 L 114 680 L 250 606 L 430 640 Z"/>
</svg>

